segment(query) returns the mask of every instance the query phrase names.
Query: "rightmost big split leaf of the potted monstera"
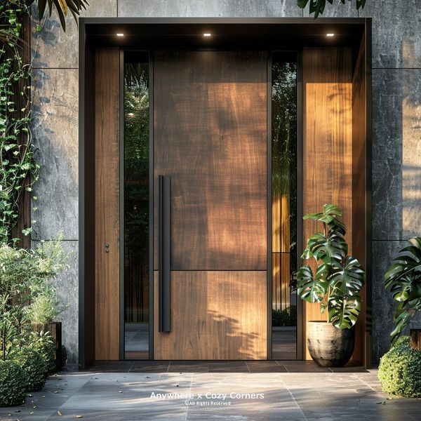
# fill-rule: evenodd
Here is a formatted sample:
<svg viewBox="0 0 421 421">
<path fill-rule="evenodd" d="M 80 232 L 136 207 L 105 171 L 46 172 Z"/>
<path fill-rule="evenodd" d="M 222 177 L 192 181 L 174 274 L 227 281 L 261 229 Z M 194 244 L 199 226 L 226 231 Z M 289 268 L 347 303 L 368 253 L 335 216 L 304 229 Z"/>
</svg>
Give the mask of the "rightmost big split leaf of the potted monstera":
<svg viewBox="0 0 421 421">
<path fill-rule="evenodd" d="M 358 295 L 366 281 L 366 273 L 356 258 L 348 256 L 345 262 L 332 263 L 328 281 L 333 288 L 333 294 L 336 293 L 336 290 L 340 290 L 344 296 Z"/>
</svg>

